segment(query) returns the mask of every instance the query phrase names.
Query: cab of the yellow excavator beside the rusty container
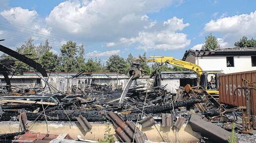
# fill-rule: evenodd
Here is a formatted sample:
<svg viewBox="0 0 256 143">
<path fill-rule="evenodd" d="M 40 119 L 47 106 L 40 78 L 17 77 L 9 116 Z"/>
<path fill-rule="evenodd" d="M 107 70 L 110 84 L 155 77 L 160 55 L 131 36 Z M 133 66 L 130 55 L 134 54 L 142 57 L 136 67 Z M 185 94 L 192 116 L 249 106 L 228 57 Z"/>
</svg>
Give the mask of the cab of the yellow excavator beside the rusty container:
<svg viewBox="0 0 256 143">
<path fill-rule="evenodd" d="M 209 94 L 219 94 L 219 76 L 221 72 L 207 72 L 200 75 L 199 85 Z"/>
</svg>

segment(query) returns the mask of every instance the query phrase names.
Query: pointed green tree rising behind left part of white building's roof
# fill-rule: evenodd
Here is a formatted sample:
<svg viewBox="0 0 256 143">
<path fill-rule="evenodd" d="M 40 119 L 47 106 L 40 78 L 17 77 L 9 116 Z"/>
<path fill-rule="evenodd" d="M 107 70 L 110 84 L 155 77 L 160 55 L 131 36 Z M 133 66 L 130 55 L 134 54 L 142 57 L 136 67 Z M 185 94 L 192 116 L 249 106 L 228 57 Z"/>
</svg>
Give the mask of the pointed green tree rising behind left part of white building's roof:
<svg viewBox="0 0 256 143">
<path fill-rule="evenodd" d="M 203 50 L 214 50 L 220 48 L 219 42 L 211 33 L 205 37 L 205 43 L 202 46 Z"/>
</svg>

